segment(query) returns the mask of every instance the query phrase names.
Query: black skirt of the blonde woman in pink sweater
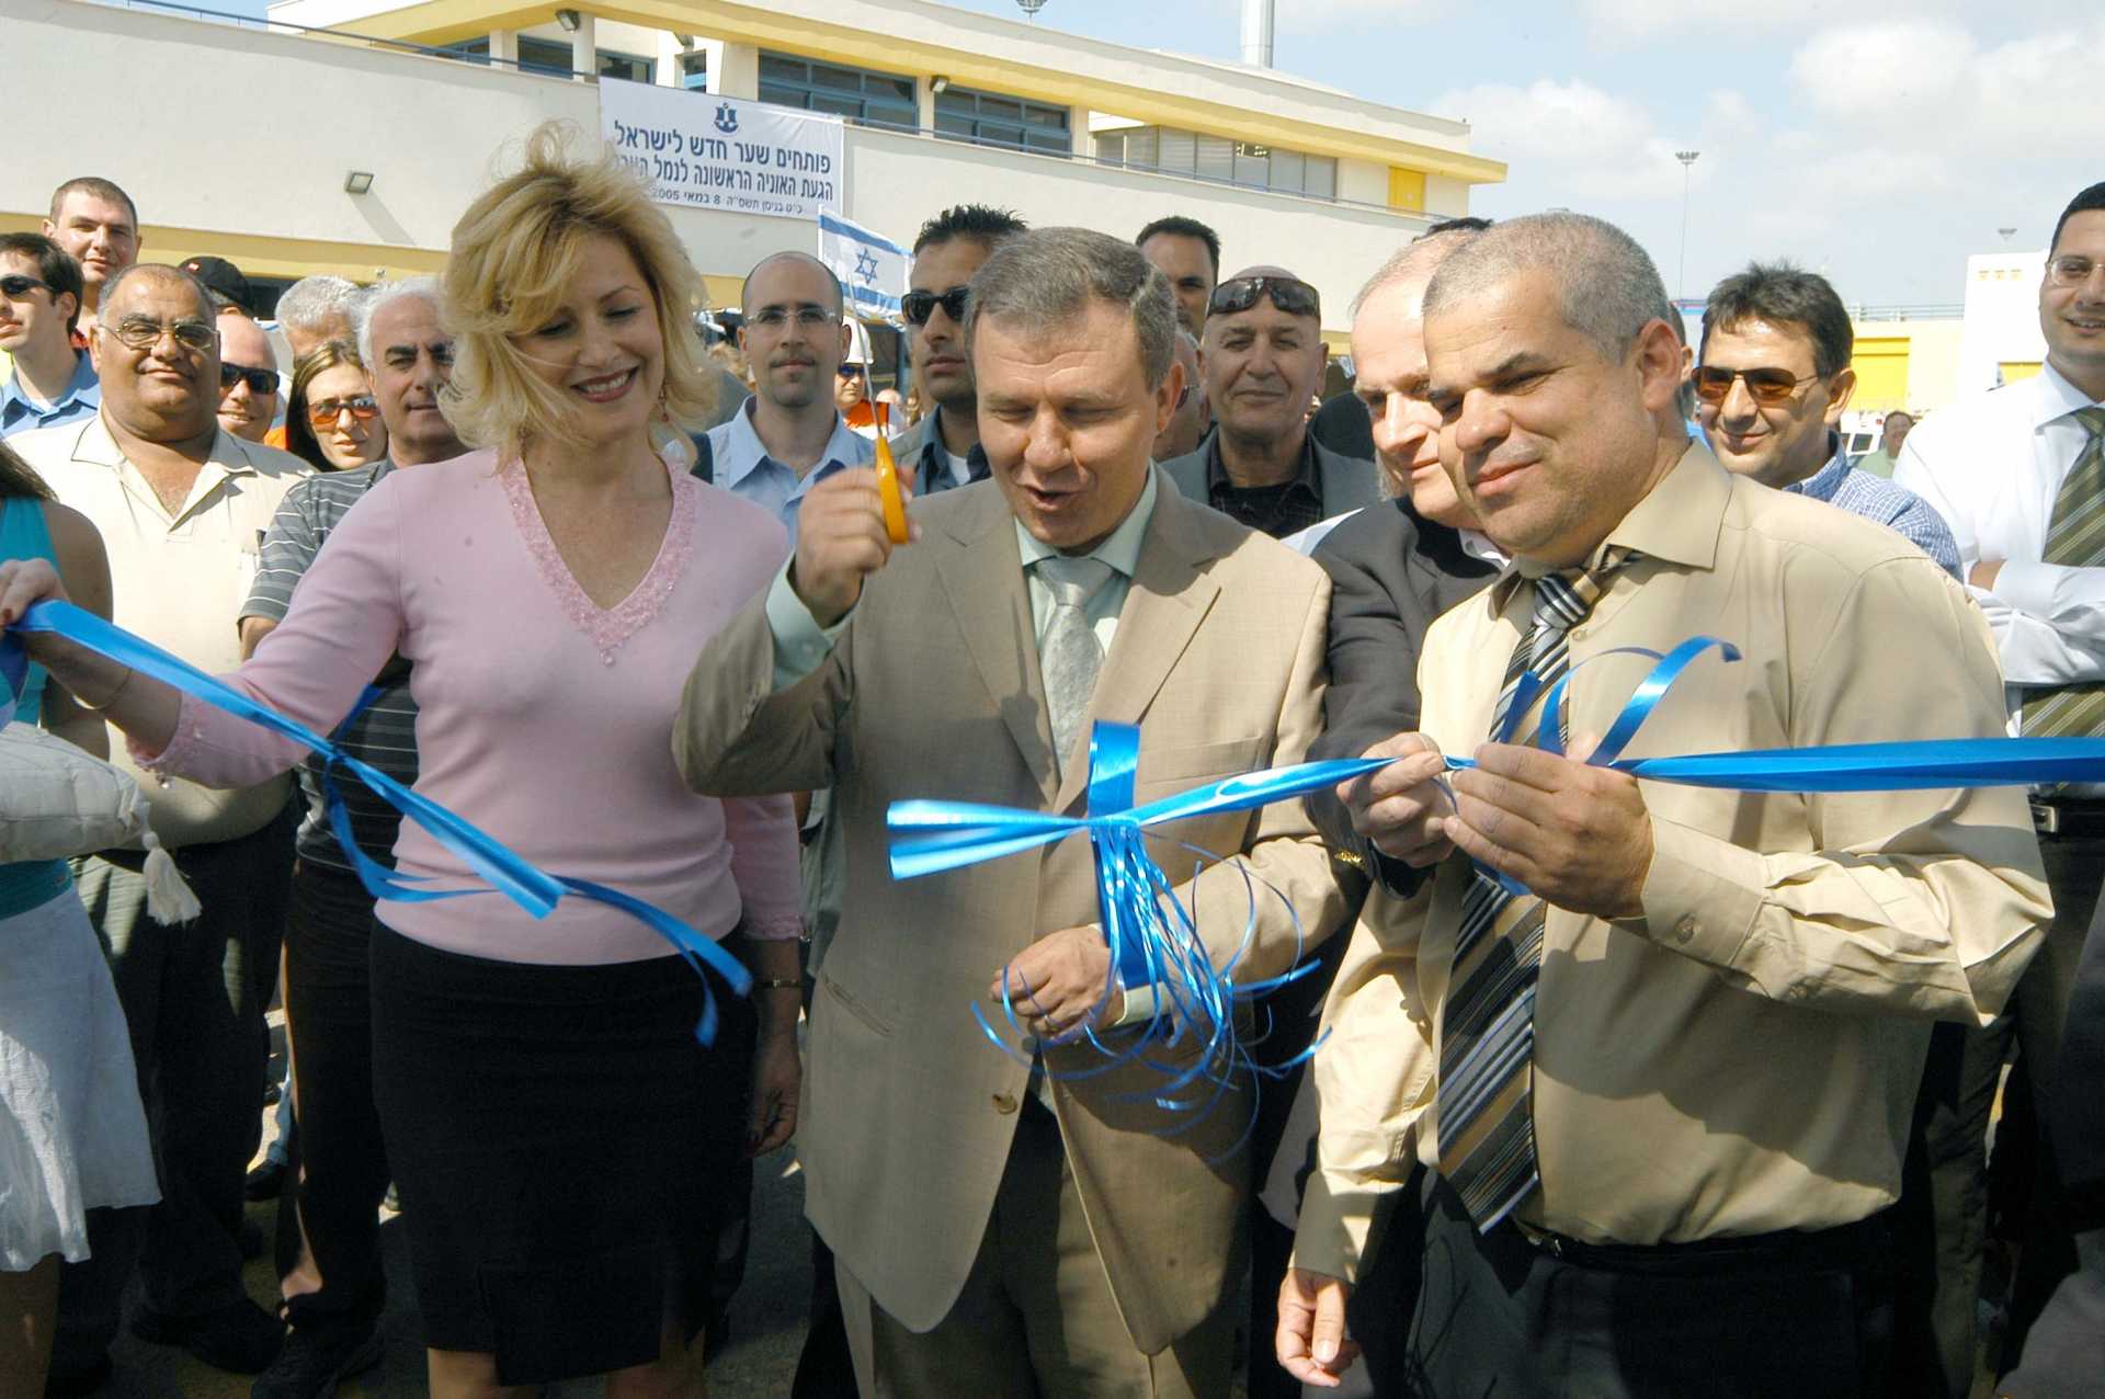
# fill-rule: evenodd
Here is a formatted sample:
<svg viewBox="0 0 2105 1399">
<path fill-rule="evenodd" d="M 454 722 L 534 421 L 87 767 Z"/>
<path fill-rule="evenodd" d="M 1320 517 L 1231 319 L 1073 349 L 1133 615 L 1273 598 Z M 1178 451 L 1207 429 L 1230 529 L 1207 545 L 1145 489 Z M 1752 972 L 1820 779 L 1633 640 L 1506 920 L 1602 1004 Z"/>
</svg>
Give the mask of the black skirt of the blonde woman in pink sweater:
<svg viewBox="0 0 2105 1399">
<path fill-rule="evenodd" d="M 659 1357 L 709 1306 L 754 1012 L 695 1041 L 680 957 L 528 966 L 373 928 L 373 1092 L 425 1344 L 543 1384 Z"/>
</svg>

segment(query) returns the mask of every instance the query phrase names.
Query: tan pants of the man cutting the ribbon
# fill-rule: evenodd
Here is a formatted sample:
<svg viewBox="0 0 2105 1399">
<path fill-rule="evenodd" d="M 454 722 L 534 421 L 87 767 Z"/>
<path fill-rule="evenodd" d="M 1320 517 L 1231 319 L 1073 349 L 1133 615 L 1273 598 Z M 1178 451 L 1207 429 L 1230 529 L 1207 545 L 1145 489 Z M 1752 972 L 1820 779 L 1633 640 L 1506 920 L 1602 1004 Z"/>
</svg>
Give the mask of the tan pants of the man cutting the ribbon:
<svg viewBox="0 0 2105 1399">
<path fill-rule="evenodd" d="M 865 1399 L 1225 1399 L 1234 1313 L 1217 1306 L 1162 1355 L 1132 1349 L 1082 1218 L 1059 1123 L 1017 1123 L 987 1237 L 956 1306 L 909 1332 L 836 1260 Z"/>
</svg>

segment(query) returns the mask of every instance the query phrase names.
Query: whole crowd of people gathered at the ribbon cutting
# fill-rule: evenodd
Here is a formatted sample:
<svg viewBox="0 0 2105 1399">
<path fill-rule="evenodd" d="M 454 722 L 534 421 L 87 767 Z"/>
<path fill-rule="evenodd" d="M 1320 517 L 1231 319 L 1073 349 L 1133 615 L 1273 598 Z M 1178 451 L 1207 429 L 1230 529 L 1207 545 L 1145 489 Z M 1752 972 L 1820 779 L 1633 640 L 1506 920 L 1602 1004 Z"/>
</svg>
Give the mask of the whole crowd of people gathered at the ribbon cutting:
<svg viewBox="0 0 2105 1399">
<path fill-rule="evenodd" d="M 1739 661 L 1633 751 L 2105 736 L 2105 185 L 2042 372 L 1863 463 L 1848 313 L 1785 263 L 1690 345 L 1608 223 L 1436 223 L 1324 402 L 1316 286 L 1204 223 L 933 210 L 901 541 L 823 261 L 709 347 L 632 175 L 554 126 L 518 164 L 440 276 L 288 288 L 290 374 L 105 179 L 0 236 L 0 623 L 112 616 L 751 991 L 703 1043 L 644 924 L 434 898 L 476 871 L 360 783 L 25 635 L 15 717 L 141 778 L 202 913 L 145 917 L 141 852 L 0 867 L 0 1393 L 109 1384 L 135 1281 L 143 1340 L 335 1393 L 394 1189 L 429 1393 L 701 1395 L 791 1136 L 800 1399 L 2105 1391 L 2105 791 L 1585 762 L 1692 635 Z M 1217 966 L 1299 972 L 1263 1073 L 1120 980 L 1088 842 L 890 875 L 899 799 L 1082 812 L 1095 722 L 1137 802 L 1389 759 L 1154 846 Z"/>
</svg>

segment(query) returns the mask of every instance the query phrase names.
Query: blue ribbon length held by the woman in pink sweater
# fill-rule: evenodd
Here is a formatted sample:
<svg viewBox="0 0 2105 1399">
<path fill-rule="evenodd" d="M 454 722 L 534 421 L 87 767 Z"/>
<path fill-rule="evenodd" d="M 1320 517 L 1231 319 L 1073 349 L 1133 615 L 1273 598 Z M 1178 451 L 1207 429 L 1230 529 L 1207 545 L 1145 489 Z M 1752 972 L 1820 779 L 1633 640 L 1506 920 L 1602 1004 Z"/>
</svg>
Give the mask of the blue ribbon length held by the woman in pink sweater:
<svg viewBox="0 0 2105 1399">
<path fill-rule="evenodd" d="M 276 709 L 259 705 L 219 677 L 200 671 L 179 656 L 171 656 L 152 642 L 133 635 L 122 627 L 105 623 L 93 612 L 84 612 L 69 602 L 38 602 L 29 608 L 27 616 L 11 627 L 11 631 L 36 631 L 65 637 L 76 646 L 93 650 L 95 654 L 120 665 L 128 665 L 141 675 L 149 675 L 166 686 L 173 686 L 175 690 L 181 690 L 183 694 L 225 709 L 236 717 L 259 724 L 274 734 L 290 738 L 293 743 L 318 753 L 324 762 L 322 787 L 330 831 L 335 831 L 337 844 L 343 846 L 343 852 L 358 871 L 366 892 L 370 892 L 377 900 L 427 903 L 434 898 L 461 898 L 495 890 L 526 909 L 533 917 L 547 917 L 564 894 L 575 894 L 579 898 L 589 898 L 592 903 L 619 909 L 671 942 L 674 951 L 678 951 L 686 964 L 695 968 L 697 976 L 701 976 L 701 1020 L 695 1025 L 695 1039 L 701 1043 L 714 1043 L 718 1025 L 716 993 L 709 987 L 709 978 L 703 974 L 703 968 L 722 976 L 735 995 L 751 991 L 751 972 L 739 966 L 737 957 L 726 953 L 714 938 L 707 938 L 676 919 L 671 913 L 602 884 L 541 871 L 495 835 L 480 831 L 438 802 L 417 795 L 379 768 L 352 757 L 330 738 L 324 738 L 312 728 L 284 717 Z M 6 669 L 13 684 L 15 671 L 8 656 L 21 656 L 19 637 L 8 637 L 6 644 L 0 646 L 0 667 Z M 360 696 L 352 717 L 364 711 L 373 698 L 375 690 L 368 688 L 366 694 Z M 349 719 L 345 719 L 345 724 L 349 724 Z M 408 820 L 421 825 L 432 839 L 459 856 L 459 860 L 467 865 L 486 888 L 423 888 L 427 881 L 421 875 L 402 875 L 362 852 L 358 848 L 358 839 L 352 835 L 352 820 L 343 810 L 343 795 L 335 785 L 335 772 L 339 770 L 356 776 L 377 797 L 394 806 Z"/>
</svg>

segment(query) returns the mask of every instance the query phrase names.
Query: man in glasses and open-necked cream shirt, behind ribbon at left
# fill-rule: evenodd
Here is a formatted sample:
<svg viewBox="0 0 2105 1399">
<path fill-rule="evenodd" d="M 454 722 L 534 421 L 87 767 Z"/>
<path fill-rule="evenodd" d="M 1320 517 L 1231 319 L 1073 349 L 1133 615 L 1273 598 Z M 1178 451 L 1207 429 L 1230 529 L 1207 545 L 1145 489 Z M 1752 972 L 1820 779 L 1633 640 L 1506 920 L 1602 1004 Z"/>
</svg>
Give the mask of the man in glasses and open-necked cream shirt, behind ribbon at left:
<svg viewBox="0 0 2105 1399">
<path fill-rule="evenodd" d="M 120 271 L 103 288 L 91 341 L 101 412 L 13 446 L 101 530 L 116 623 L 206 671 L 232 671 L 242 658 L 234 619 L 259 543 L 305 465 L 219 425 L 213 322 L 204 288 L 187 273 Z M 97 707 L 109 698 L 82 696 Z M 109 751 L 126 762 L 122 736 Z M 88 858 L 78 877 L 131 1020 L 162 1203 L 91 1220 L 93 1258 L 61 1273 L 53 1374 L 93 1376 L 107 1365 L 135 1262 L 145 1290 L 133 1319 L 139 1336 L 253 1374 L 272 1361 L 280 1334 L 242 1288 L 238 1229 L 242 1174 L 261 1132 L 263 1008 L 293 873 L 288 787 L 278 778 L 208 791 L 145 776 L 141 785 L 202 917 L 181 928 L 149 921 L 137 852 Z"/>
</svg>

